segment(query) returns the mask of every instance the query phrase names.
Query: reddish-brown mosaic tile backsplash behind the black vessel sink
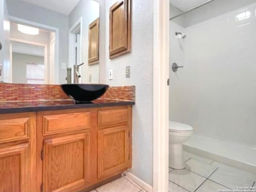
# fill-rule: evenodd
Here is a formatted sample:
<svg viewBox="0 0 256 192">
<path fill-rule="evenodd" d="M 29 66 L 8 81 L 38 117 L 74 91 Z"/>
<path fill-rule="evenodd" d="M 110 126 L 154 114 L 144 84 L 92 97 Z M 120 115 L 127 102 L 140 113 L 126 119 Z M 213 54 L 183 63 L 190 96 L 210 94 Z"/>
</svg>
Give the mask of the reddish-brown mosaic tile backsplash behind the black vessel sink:
<svg viewBox="0 0 256 192">
<path fill-rule="evenodd" d="M 135 101 L 135 86 L 109 87 L 101 98 Z M 59 85 L 0 83 L 0 102 L 64 99 L 70 98 Z"/>
</svg>

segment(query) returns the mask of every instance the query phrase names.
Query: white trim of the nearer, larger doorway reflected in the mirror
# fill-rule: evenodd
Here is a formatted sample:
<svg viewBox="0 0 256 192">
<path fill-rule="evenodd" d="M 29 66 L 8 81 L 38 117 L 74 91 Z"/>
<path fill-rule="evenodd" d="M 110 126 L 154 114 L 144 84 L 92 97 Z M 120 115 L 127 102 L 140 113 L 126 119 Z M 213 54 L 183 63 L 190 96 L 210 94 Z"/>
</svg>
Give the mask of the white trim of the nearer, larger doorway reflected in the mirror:
<svg viewBox="0 0 256 192">
<path fill-rule="evenodd" d="M 56 27 L 48 26 L 45 24 L 37 23 L 37 22 L 32 22 L 29 20 L 21 19 L 18 17 L 14 16 L 9 16 L 10 21 L 13 22 L 18 22 L 18 23 L 23 23 L 23 24 L 28 24 L 30 26 L 35 26 L 38 28 L 46 29 L 55 32 L 55 49 L 54 49 L 54 82 L 52 84 L 59 84 L 59 29 Z M 48 59 L 47 59 L 48 60 Z"/>
</svg>

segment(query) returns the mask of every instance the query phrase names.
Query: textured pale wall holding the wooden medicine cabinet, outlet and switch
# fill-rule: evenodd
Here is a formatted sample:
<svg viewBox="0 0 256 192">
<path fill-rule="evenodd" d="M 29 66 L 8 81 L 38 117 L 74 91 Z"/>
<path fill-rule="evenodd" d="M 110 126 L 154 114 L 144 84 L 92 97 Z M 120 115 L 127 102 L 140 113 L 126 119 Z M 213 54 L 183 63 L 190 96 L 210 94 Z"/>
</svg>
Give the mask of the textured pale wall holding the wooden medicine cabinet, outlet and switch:
<svg viewBox="0 0 256 192">
<path fill-rule="evenodd" d="M 106 84 L 135 85 L 133 106 L 131 172 L 153 184 L 153 1 L 132 0 L 132 51 L 109 59 L 109 8 L 116 0 L 106 1 Z M 131 67 L 126 78 L 125 68 Z M 113 80 L 108 70 L 113 69 Z"/>
</svg>

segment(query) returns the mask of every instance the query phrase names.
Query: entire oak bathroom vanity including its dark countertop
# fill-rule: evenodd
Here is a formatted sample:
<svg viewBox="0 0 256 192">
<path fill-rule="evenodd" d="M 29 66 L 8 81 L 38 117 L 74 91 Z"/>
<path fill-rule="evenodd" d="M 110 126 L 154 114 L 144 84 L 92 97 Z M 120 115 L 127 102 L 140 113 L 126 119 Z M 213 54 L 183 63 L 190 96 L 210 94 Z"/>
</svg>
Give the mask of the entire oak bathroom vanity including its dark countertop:
<svg viewBox="0 0 256 192">
<path fill-rule="evenodd" d="M 0 188 L 89 191 L 120 177 L 132 166 L 132 104 L 0 108 Z"/>
</svg>

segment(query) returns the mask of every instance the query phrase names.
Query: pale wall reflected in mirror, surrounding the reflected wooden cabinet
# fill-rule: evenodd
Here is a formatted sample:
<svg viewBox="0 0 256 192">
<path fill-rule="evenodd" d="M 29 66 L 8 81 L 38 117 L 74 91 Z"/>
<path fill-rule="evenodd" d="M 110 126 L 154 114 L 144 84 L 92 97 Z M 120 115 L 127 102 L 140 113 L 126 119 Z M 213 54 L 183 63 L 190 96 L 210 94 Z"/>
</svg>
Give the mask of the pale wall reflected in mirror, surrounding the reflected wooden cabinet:
<svg viewBox="0 0 256 192">
<path fill-rule="evenodd" d="M 100 64 L 88 66 L 88 30 L 89 24 L 100 16 L 100 4 L 94 0 L 80 0 L 68 16 L 68 25 L 71 28 L 82 16 L 82 83 L 89 83 L 89 74 L 92 74 L 92 82 L 99 83 Z M 100 22 L 100 25 L 102 23 Z M 100 30 L 100 33 L 104 31 Z M 100 42 L 101 43 L 101 42 Z M 100 54 L 101 57 L 101 54 Z M 101 63 L 102 61 L 100 61 Z M 73 67 L 74 64 L 70 66 Z"/>
</svg>

